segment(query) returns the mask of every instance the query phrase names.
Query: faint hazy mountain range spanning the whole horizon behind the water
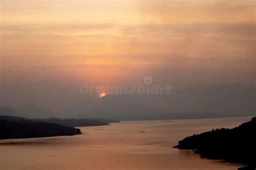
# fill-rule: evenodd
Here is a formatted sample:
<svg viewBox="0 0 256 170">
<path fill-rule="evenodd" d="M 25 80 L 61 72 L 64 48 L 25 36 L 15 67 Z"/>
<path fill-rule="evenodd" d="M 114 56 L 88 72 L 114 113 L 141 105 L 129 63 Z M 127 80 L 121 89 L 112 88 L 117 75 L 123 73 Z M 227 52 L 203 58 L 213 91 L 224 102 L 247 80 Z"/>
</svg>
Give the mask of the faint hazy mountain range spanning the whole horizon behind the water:
<svg viewBox="0 0 256 170">
<path fill-rule="evenodd" d="M 124 121 L 256 116 L 255 94 L 256 86 L 237 83 L 180 89 L 173 87 L 171 95 L 141 95 L 134 92 L 131 95 L 113 94 L 97 99 L 81 97 L 76 102 L 62 104 L 54 111 L 36 104 L 26 104 L 9 109 L 5 107 L 2 111 L 0 108 L 0 115 L 43 119 L 96 117 Z"/>
</svg>

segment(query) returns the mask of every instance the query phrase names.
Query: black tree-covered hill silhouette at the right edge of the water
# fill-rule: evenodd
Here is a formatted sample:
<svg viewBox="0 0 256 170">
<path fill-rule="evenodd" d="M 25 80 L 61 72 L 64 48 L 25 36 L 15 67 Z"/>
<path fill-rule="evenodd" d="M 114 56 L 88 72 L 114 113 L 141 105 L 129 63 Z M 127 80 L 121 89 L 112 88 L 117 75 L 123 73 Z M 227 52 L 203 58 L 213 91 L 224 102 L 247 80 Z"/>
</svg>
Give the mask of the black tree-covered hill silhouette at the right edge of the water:
<svg viewBox="0 0 256 170">
<path fill-rule="evenodd" d="M 216 129 L 194 134 L 179 141 L 175 148 L 194 150 L 194 153 L 211 159 L 249 164 L 255 169 L 256 117 L 233 129 Z"/>
</svg>

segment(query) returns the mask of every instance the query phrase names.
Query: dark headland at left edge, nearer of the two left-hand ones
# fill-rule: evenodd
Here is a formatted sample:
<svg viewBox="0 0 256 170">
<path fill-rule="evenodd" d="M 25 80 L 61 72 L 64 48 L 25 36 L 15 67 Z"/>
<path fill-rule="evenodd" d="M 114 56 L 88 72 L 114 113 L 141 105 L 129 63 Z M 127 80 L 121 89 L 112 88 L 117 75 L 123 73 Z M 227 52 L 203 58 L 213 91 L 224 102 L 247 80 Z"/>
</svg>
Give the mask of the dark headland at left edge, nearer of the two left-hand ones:
<svg viewBox="0 0 256 170">
<path fill-rule="evenodd" d="M 81 134 L 79 129 L 32 121 L 23 117 L 0 116 L 0 139 L 39 138 Z"/>
</svg>

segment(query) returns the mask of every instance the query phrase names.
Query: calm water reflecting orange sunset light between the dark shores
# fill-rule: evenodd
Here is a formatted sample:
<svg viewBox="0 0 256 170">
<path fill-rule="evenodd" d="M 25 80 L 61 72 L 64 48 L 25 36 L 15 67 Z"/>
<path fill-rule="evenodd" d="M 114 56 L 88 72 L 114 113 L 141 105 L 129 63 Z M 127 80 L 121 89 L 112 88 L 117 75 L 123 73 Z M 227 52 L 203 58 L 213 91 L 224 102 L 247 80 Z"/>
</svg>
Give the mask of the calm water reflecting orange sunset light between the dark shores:
<svg viewBox="0 0 256 170">
<path fill-rule="evenodd" d="M 174 121 L 124 121 L 80 127 L 69 137 L 0 140 L 0 169 L 237 169 L 172 148 L 184 137 L 233 128 L 251 117 Z"/>
</svg>

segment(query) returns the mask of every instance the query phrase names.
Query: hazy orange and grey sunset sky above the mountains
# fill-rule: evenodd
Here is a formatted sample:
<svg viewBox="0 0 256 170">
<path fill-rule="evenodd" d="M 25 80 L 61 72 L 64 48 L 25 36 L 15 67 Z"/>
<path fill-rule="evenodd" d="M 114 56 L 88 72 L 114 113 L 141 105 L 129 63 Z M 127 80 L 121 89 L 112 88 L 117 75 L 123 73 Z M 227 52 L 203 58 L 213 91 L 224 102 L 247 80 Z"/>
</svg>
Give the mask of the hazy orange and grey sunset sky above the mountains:
<svg viewBox="0 0 256 170">
<path fill-rule="evenodd" d="M 255 1 L 1 0 L 2 103 L 76 101 L 151 76 L 255 84 Z"/>
</svg>

